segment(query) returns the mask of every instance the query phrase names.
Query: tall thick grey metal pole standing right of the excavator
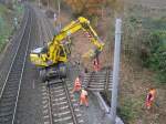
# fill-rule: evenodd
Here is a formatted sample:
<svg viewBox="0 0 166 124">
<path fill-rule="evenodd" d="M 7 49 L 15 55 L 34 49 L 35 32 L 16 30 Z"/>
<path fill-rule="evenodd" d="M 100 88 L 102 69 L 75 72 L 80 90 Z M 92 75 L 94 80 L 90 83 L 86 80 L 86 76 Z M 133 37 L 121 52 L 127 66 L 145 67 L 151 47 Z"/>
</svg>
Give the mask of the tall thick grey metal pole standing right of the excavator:
<svg viewBox="0 0 166 124">
<path fill-rule="evenodd" d="M 116 120 L 117 92 L 118 92 L 118 80 L 120 80 L 121 27 L 122 27 L 122 20 L 116 19 L 114 68 L 113 68 L 113 90 L 112 90 L 112 100 L 111 100 L 112 124 L 115 124 L 115 120 Z"/>
</svg>

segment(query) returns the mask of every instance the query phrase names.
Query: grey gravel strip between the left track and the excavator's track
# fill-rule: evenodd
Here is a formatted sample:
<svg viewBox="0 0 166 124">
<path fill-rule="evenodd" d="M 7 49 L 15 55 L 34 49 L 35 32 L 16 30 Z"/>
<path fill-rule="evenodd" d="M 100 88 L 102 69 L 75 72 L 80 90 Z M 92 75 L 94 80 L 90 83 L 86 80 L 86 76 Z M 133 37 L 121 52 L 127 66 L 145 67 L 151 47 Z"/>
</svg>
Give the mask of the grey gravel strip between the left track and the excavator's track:
<svg viewBox="0 0 166 124">
<path fill-rule="evenodd" d="M 37 18 L 33 13 L 33 25 L 31 32 L 32 50 L 39 42 Z M 25 70 L 22 79 L 22 85 L 20 91 L 20 97 L 17 111 L 17 124 L 41 124 L 42 121 L 42 106 L 41 106 L 41 93 L 40 93 L 40 80 L 38 79 L 38 71 L 35 66 L 30 63 L 29 54 L 27 58 Z"/>
</svg>

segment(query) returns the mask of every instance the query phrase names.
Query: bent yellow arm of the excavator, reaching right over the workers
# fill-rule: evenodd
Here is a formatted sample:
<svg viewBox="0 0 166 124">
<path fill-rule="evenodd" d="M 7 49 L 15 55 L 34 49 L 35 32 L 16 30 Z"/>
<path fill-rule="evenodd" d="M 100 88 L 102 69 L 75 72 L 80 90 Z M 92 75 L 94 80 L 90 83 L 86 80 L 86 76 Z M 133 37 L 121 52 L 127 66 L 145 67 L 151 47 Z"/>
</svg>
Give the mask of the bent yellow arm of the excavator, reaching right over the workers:
<svg viewBox="0 0 166 124">
<path fill-rule="evenodd" d="M 72 21 L 69 25 L 63 28 L 54 38 L 53 41 L 49 44 L 49 58 L 48 60 L 56 61 L 56 51 L 60 48 L 59 45 L 62 41 L 70 37 L 71 34 L 77 32 L 79 30 L 83 30 L 84 32 L 89 33 L 90 41 L 95 45 L 95 50 L 90 50 L 84 56 L 87 55 L 95 55 L 103 50 L 104 43 L 100 40 L 96 32 L 90 25 L 90 21 L 83 17 L 80 17 L 76 21 Z M 53 62 L 53 63 L 54 63 Z"/>
</svg>

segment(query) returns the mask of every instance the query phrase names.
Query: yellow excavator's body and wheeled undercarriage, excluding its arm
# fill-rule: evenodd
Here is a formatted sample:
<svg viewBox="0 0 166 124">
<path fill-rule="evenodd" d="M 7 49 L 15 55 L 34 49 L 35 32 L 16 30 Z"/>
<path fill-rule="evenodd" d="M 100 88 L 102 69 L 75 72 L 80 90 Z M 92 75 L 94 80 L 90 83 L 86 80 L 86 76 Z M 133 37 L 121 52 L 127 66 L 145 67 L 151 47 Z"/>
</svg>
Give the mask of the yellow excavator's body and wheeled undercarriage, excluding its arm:
<svg viewBox="0 0 166 124">
<path fill-rule="evenodd" d="M 65 46 L 63 44 L 59 45 L 59 50 L 56 51 L 56 54 L 54 54 L 59 62 L 54 64 L 49 60 L 46 48 L 48 46 L 34 49 L 30 54 L 31 62 L 40 66 L 39 70 L 42 81 L 46 81 L 51 78 L 65 78 L 66 65 L 64 64 L 64 61 L 66 61 L 68 58 Z"/>
</svg>

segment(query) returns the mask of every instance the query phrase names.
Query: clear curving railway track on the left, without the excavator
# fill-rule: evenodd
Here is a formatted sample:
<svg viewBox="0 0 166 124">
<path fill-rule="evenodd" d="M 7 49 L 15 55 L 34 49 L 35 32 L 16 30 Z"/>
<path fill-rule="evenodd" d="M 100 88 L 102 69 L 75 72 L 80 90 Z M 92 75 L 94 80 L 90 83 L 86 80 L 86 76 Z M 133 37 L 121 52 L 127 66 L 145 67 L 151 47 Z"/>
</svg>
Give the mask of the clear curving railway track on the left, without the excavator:
<svg viewBox="0 0 166 124">
<path fill-rule="evenodd" d="M 23 32 L 20 37 L 20 42 L 17 52 L 12 59 L 7 79 L 0 91 L 0 124 L 14 124 L 17 107 L 20 94 L 20 86 L 24 72 L 28 49 L 30 44 L 31 33 L 31 12 L 28 9 L 28 16 Z"/>
</svg>

